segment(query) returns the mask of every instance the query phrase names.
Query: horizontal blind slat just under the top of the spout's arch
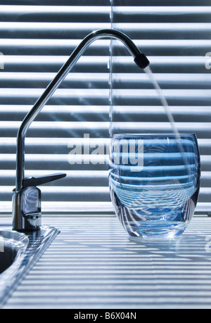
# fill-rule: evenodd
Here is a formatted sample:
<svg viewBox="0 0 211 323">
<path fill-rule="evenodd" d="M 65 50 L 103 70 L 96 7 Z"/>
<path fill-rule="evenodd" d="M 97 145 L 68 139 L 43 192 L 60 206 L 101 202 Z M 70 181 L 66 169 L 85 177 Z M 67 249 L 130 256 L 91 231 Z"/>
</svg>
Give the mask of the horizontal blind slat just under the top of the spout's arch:
<svg viewBox="0 0 211 323">
<path fill-rule="evenodd" d="M 180 56 L 191 56 L 193 52 L 194 55 L 205 56 L 205 53 L 209 52 L 211 48 L 210 39 L 167 39 L 167 41 L 166 39 L 134 39 L 134 42 L 142 51 L 148 53 L 148 56 L 174 56 L 175 53 Z M 33 56 L 34 52 L 39 56 L 68 56 L 78 44 L 79 39 L 0 39 L 1 51 L 5 56 L 15 56 L 17 51 L 21 56 Z M 96 52 L 101 55 L 105 52 L 108 53 L 109 44 L 109 40 L 99 39 L 91 44 L 84 56 L 94 56 Z M 121 52 L 124 53 L 125 49 L 124 45 L 119 44 L 118 55 Z M 18 56 L 16 58 L 17 60 L 21 59 Z M 81 60 L 82 58 L 80 58 Z"/>
</svg>

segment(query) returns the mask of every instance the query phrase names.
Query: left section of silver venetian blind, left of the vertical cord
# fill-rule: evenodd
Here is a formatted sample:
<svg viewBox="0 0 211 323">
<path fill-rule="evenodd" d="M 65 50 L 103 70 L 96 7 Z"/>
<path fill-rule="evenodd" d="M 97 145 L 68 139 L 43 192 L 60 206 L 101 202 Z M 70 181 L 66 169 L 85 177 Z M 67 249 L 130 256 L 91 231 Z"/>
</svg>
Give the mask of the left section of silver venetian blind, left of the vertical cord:
<svg viewBox="0 0 211 323">
<path fill-rule="evenodd" d="M 111 27 L 110 8 L 109 0 L 0 1 L 1 212 L 11 212 L 20 122 L 79 42 Z M 105 156 L 89 163 L 89 153 L 109 141 L 109 62 L 110 39 L 94 42 L 27 133 L 25 176 L 67 174 L 40 187 L 43 211 L 112 210 Z M 75 146 L 82 154 L 72 164 Z"/>
</svg>

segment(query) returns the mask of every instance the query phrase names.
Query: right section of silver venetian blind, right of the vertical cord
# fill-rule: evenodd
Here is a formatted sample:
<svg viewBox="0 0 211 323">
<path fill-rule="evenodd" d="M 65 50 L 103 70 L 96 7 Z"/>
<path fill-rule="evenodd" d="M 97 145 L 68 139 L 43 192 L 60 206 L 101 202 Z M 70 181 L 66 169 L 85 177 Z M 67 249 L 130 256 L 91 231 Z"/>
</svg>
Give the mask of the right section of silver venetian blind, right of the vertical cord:
<svg viewBox="0 0 211 323">
<path fill-rule="evenodd" d="M 196 133 L 201 188 L 196 211 L 211 211 L 210 1 L 113 0 L 113 28 L 134 39 L 181 133 Z M 148 76 L 113 42 L 113 132 L 172 132 Z"/>
</svg>

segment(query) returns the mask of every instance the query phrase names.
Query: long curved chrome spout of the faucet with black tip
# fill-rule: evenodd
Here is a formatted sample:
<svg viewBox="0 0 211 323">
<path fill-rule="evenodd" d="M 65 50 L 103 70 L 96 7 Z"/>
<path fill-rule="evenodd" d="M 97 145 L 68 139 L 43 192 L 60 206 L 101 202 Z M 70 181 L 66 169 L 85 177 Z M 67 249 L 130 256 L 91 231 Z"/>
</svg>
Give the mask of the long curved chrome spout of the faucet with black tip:
<svg viewBox="0 0 211 323">
<path fill-rule="evenodd" d="M 37 117 L 41 109 L 46 105 L 46 103 L 51 99 L 53 93 L 58 89 L 61 82 L 65 79 L 68 73 L 75 66 L 79 58 L 82 56 L 84 51 L 93 43 L 96 39 L 110 38 L 110 39 L 119 39 L 128 49 L 129 53 L 134 57 L 134 62 L 138 65 L 139 68 L 146 68 L 149 65 L 148 58 L 139 51 L 134 42 L 127 37 L 127 35 L 119 32 L 117 30 L 97 30 L 91 32 L 85 37 L 82 42 L 77 46 L 75 51 L 72 52 L 68 61 L 63 65 L 63 67 L 58 71 L 56 77 L 51 81 L 44 93 L 39 97 L 37 102 L 34 104 L 30 112 L 26 115 L 20 129 L 18 130 L 17 137 L 17 152 L 16 152 L 16 180 L 15 180 L 15 190 L 13 197 L 13 229 L 24 230 L 23 221 L 20 220 L 20 217 L 23 217 L 22 208 L 22 195 L 23 191 L 23 182 L 25 180 L 25 137 L 27 130 L 30 125 Z M 37 194 L 39 196 L 40 194 Z M 39 203 L 38 203 L 39 204 Z M 18 220 L 19 217 L 19 220 Z M 34 213 L 33 213 L 34 217 Z M 31 227 L 31 226 L 30 226 Z M 33 229 L 33 225 L 32 228 Z"/>
</svg>

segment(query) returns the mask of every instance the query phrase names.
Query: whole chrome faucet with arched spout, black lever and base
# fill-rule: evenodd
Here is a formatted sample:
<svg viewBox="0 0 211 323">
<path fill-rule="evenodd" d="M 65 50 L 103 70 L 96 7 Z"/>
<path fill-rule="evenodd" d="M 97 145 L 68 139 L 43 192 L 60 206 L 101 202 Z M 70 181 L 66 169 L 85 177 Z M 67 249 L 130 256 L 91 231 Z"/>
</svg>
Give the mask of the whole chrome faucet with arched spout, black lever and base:
<svg viewBox="0 0 211 323">
<path fill-rule="evenodd" d="M 139 51 L 134 42 L 122 32 L 117 30 L 97 30 L 91 32 L 85 37 L 72 52 L 68 61 L 59 70 L 56 77 L 51 81 L 44 93 L 32 107 L 32 110 L 26 115 L 17 137 L 16 152 L 16 182 L 13 190 L 13 229 L 16 231 L 37 230 L 41 227 L 41 191 L 37 186 L 46 184 L 65 177 L 65 174 L 49 175 L 46 177 L 30 177 L 25 178 L 25 137 L 31 123 L 37 117 L 40 110 L 49 101 L 53 93 L 58 89 L 59 85 L 70 70 L 75 66 L 80 56 L 87 47 L 96 39 L 110 38 L 119 39 L 128 49 L 129 53 L 134 57 L 134 62 L 139 68 L 146 68 L 149 65 L 148 58 Z"/>
</svg>

